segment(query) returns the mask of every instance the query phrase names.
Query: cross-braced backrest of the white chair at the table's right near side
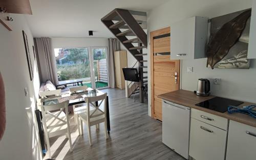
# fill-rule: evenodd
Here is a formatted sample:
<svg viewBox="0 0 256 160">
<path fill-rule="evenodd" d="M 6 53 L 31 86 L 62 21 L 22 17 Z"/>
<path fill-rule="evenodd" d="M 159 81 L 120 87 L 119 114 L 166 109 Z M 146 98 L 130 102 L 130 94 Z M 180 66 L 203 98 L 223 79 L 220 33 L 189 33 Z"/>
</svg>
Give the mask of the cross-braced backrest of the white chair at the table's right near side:
<svg viewBox="0 0 256 160">
<path fill-rule="evenodd" d="M 95 96 L 95 97 L 84 97 L 84 101 L 87 102 L 87 106 L 93 106 L 95 110 L 93 110 L 92 113 L 90 113 L 90 107 L 87 107 L 87 120 L 90 122 L 91 118 L 95 118 L 101 115 L 105 115 L 106 117 L 106 93 L 100 96 Z M 98 105 L 96 105 L 93 102 L 97 102 Z M 99 107 L 101 105 L 104 105 L 104 111 L 102 111 Z"/>
</svg>

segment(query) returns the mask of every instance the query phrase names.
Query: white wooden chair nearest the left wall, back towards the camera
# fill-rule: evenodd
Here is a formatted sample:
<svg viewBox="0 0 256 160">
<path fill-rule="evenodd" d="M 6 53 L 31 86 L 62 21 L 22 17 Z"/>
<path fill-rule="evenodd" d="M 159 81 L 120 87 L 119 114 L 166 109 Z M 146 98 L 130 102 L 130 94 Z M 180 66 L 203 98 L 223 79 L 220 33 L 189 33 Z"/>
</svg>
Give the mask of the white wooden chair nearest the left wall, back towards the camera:
<svg viewBox="0 0 256 160">
<path fill-rule="evenodd" d="M 53 104 L 53 105 L 42 105 L 42 123 L 44 125 L 44 134 L 47 143 L 47 149 L 49 158 L 51 158 L 50 142 L 49 138 L 62 135 L 66 133 L 69 138 L 70 151 L 72 151 L 71 135 L 70 135 L 70 124 L 69 124 L 69 101 Z M 58 110 L 58 111 L 56 111 Z M 63 112 L 66 110 L 66 114 Z M 54 112 L 51 112 L 54 111 Z"/>
</svg>

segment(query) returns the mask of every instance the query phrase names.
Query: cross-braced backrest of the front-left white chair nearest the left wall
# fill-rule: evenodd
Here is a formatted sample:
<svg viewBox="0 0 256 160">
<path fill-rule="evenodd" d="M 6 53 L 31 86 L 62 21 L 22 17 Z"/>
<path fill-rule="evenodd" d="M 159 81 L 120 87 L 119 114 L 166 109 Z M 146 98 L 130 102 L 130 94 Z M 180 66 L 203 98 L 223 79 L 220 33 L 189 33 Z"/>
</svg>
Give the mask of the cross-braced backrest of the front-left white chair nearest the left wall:
<svg viewBox="0 0 256 160">
<path fill-rule="evenodd" d="M 69 110 L 68 110 L 69 101 L 53 104 L 53 105 L 42 105 L 42 121 L 44 124 L 45 131 L 50 128 L 61 127 L 63 125 L 69 124 Z M 63 110 L 66 111 L 66 116 L 63 116 Z M 51 112 L 54 111 L 54 112 Z M 66 117 L 61 119 L 60 117 Z"/>
</svg>

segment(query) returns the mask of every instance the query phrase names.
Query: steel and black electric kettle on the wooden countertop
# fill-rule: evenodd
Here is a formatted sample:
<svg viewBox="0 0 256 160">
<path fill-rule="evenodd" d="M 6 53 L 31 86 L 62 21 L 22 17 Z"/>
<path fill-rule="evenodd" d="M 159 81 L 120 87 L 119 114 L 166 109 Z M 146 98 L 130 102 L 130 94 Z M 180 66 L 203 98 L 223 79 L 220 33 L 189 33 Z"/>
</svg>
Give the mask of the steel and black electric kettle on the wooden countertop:
<svg viewBox="0 0 256 160">
<path fill-rule="evenodd" d="M 209 96 L 210 95 L 210 81 L 206 78 L 199 78 L 197 84 L 198 96 Z"/>
</svg>

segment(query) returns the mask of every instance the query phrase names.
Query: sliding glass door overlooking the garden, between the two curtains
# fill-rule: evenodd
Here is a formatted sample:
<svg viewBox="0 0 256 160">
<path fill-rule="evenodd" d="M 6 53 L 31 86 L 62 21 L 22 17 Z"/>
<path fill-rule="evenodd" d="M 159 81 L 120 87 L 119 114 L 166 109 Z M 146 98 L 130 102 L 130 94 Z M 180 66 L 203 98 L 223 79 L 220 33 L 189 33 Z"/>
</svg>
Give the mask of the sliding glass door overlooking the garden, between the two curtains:
<svg viewBox="0 0 256 160">
<path fill-rule="evenodd" d="M 109 87 L 108 57 L 105 47 L 54 49 L 59 84 Z M 74 83 L 72 83 L 74 82 Z"/>
</svg>

